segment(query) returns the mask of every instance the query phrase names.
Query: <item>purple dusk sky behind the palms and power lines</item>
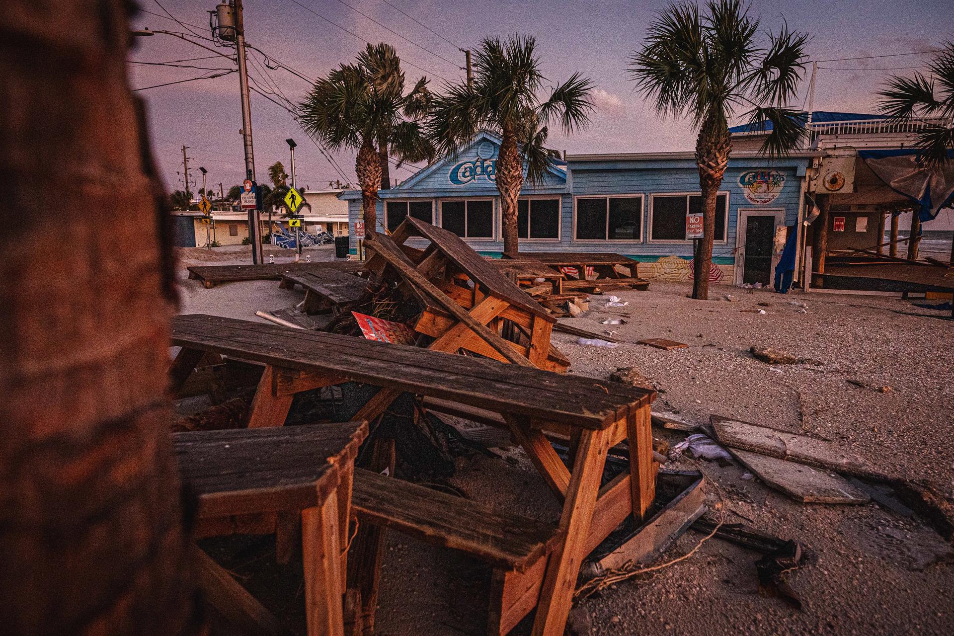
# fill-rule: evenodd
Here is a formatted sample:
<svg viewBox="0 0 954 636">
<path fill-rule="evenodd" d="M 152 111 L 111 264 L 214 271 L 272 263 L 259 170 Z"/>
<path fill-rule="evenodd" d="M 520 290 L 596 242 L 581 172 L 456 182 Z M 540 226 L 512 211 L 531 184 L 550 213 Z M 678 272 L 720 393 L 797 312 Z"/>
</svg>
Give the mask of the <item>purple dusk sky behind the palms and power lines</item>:
<svg viewBox="0 0 954 636">
<path fill-rule="evenodd" d="M 441 77 L 454 81 L 463 77 L 458 67 L 463 66 L 464 54 L 456 51 L 456 46 L 476 48 L 485 35 L 507 35 L 515 31 L 532 34 L 537 39 L 543 71 L 551 82 L 563 81 L 572 72 L 579 71 L 597 84 L 594 101 L 598 110 L 590 127 L 570 138 L 564 138 L 559 132 L 551 133 L 551 147 L 570 153 L 692 150 L 694 147 L 695 134 L 688 125 L 662 119 L 653 113 L 633 92 L 633 82 L 626 73 L 629 55 L 639 46 L 654 11 L 662 3 L 388 0 L 391 5 L 440 33 L 448 42 L 388 6 L 384 0 L 343 2 L 400 33 L 406 40 L 349 9 L 342 0 L 298 1 L 365 40 L 394 45 L 405 61 L 408 80 L 426 74 L 432 79 L 431 88 L 437 91 L 444 83 Z M 216 0 L 159 2 L 179 20 L 204 27 L 191 28 L 208 35 L 207 10 L 215 8 Z M 143 10 L 165 15 L 156 0 L 140 0 L 140 6 Z M 950 37 L 954 3 L 950 0 L 878 0 L 866 3 L 757 0 L 753 2 L 752 12 L 761 16 L 763 28 L 774 30 L 786 20 L 790 28 L 807 31 L 812 37 L 807 47 L 809 55 L 823 60 L 936 49 L 945 37 Z M 136 26 L 183 31 L 176 22 L 150 13 L 140 14 Z M 364 47 L 363 40 L 302 9 L 293 0 L 246 0 L 245 30 L 250 45 L 310 77 L 324 74 L 341 62 L 351 61 Z M 137 38 L 136 45 L 130 54 L 130 59 L 136 61 L 165 62 L 213 55 L 163 34 Z M 256 62 L 250 66 L 250 73 L 263 86 L 270 86 L 267 84 L 269 78 L 263 77 L 265 70 L 259 67 L 261 56 L 258 53 L 253 53 L 253 56 Z M 870 112 L 874 108 L 874 92 L 883 78 L 892 72 L 913 72 L 908 67 L 919 67 L 928 59 L 929 55 L 906 55 L 819 64 L 815 108 Z M 425 71 L 407 63 L 418 65 Z M 184 64 L 210 68 L 229 66 L 224 58 Z M 162 66 L 131 64 L 129 68 L 134 88 L 203 74 L 196 69 Z M 267 72 L 280 92 L 292 101 L 301 100 L 309 88 L 307 82 L 289 72 Z M 800 87 L 797 103 L 792 106 L 801 107 L 807 91 L 806 78 Z M 171 189 L 181 188 L 180 176 L 176 172 L 181 171 L 182 145 L 190 147 L 190 172 L 194 174 L 197 187 L 201 186 L 197 171 L 200 165 L 209 171 L 210 189 L 218 189 L 219 181 L 224 183 L 226 190 L 239 183 L 244 162 L 239 135 L 238 92 L 239 77 L 233 73 L 140 93 L 148 104 L 156 154 Z M 288 169 L 288 147 L 284 142 L 287 137 L 294 137 L 299 144 L 296 149 L 299 186 L 321 188 L 326 187 L 329 180 L 339 178 L 291 115 L 254 93 L 252 124 L 259 180 L 267 179 L 267 167 L 276 160 L 281 160 Z M 353 180 L 354 155 L 343 151 L 336 154 L 336 159 L 348 178 Z M 392 177 L 401 179 L 409 174 L 411 171 L 407 169 L 397 173 L 392 171 Z"/>
</svg>

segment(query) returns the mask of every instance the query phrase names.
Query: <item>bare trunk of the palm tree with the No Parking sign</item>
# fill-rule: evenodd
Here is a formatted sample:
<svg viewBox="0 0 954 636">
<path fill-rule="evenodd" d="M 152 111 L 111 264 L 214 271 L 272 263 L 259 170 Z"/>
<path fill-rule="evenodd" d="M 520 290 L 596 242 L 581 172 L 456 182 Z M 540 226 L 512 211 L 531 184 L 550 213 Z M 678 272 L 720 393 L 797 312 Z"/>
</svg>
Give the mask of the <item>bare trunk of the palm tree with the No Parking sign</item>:
<svg viewBox="0 0 954 636">
<path fill-rule="evenodd" d="M 699 167 L 699 188 L 702 191 L 702 244 L 695 257 L 693 297 L 709 299 L 709 270 L 713 264 L 713 240 L 716 238 L 716 196 L 722 175 L 729 166 L 732 141 L 724 125 L 704 123 L 695 140 L 695 163 Z"/>
</svg>

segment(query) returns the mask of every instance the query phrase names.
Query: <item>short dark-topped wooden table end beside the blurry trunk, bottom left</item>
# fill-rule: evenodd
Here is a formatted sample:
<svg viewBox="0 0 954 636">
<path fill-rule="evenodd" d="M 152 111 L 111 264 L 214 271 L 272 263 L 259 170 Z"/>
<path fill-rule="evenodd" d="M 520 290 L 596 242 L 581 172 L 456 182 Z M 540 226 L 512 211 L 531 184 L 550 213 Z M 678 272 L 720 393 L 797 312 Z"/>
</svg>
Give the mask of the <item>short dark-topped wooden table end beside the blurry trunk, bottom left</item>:
<svg viewBox="0 0 954 636">
<path fill-rule="evenodd" d="M 223 528 L 242 527 L 235 522 L 237 518 L 252 516 L 258 530 L 267 532 L 280 529 L 281 519 L 297 522 L 301 517 L 309 636 L 344 633 L 346 554 L 342 554 L 342 545 L 348 539 L 354 462 L 366 436 L 365 421 L 190 431 L 173 436 L 179 474 L 198 495 L 200 536 L 228 534 Z M 279 535 L 279 543 L 282 541 Z M 277 551 L 282 549 L 279 545 Z M 207 573 L 217 566 L 202 559 L 200 567 Z M 221 573 L 215 579 L 219 587 L 230 585 Z M 209 582 L 203 579 L 203 584 Z M 216 594 L 209 596 L 216 598 Z M 223 613 L 241 605 L 224 604 Z M 243 618 L 260 622 L 265 611 L 259 608 L 254 612 L 256 619 Z"/>
</svg>

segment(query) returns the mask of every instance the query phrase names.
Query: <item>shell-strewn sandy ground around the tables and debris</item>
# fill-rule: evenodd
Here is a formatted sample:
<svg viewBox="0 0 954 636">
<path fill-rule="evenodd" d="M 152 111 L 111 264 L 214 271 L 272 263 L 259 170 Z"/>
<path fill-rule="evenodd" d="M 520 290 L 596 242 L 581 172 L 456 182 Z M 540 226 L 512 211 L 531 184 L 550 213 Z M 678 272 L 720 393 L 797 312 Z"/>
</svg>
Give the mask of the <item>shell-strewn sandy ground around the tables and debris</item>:
<svg viewBox="0 0 954 636">
<path fill-rule="evenodd" d="M 333 250 L 312 254 L 330 259 Z M 572 373 L 606 378 L 618 366 L 638 367 L 661 390 L 653 410 L 674 411 L 695 423 L 712 414 L 732 416 L 837 441 L 884 473 L 925 479 L 954 495 L 954 321 L 944 319 L 944 312 L 888 297 L 783 296 L 716 286 L 716 299 L 695 301 L 686 297 L 689 291 L 685 284 L 653 282 L 648 292 L 616 293 L 629 303 L 618 308 L 606 307 L 605 297 L 591 297 L 590 312 L 567 320 L 595 332 L 612 329 L 624 343 L 593 347 L 556 332 L 554 342 L 572 361 Z M 274 281 L 207 290 L 185 279 L 184 271 L 180 294 L 182 313 L 250 319 L 256 310 L 280 309 L 302 297 Z M 606 318 L 628 322 L 601 324 Z M 667 352 L 634 344 L 644 338 L 690 347 Z M 822 364 L 771 366 L 751 357 L 753 345 Z M 892 390 L 876 393 L 848 379 Z M 654 434 L 672 442 L 684 437 Z M 477 456 L 458 464 L 454 483 L 472 499 L 543 519 L 558 514 L 546 486 L 519 454 L 510 462 Z M 670 465 L 696 464 L 679 459 Z M 591 618 L 589 633 L 952 633 L 951 547 L 917 518 L 875 503 L 796 503 L 757 480 L 743 480 L 745 470 L 736 464 L 698 467 L 718 485 L 708 498 L 721 501 L 727 521 L 808 546 L 809 563 L 788 575 L 803 609 L 759 595 L 759 555 L 713 539 L 681 563 L 581 602 Z M 685 554 L 700 539 L 687 533 L 665 559 Z M 391 533 L 377 629 L 393 636 L 482 634 L 487 581 L 480 564 Z"/>
</svg>

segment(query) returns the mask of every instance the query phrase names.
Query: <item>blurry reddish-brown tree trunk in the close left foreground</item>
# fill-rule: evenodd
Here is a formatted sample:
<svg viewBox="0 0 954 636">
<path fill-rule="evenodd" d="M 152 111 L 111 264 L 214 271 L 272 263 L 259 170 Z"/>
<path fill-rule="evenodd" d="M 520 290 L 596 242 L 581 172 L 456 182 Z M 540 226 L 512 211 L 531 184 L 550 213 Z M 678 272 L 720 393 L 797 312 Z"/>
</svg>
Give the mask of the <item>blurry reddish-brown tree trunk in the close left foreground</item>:
<svg viewBox="0 0 954 636">
<path fill-rule="evenodd" d="M 11 0 L 0 22 L 5 634 L 197 631 L 165 395 L 171 219 L 126 83 L 129 6 Z"/>
</svg>

